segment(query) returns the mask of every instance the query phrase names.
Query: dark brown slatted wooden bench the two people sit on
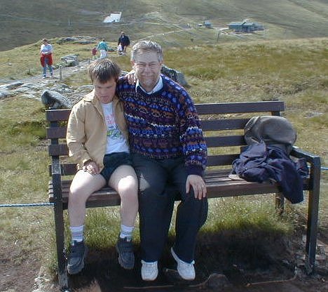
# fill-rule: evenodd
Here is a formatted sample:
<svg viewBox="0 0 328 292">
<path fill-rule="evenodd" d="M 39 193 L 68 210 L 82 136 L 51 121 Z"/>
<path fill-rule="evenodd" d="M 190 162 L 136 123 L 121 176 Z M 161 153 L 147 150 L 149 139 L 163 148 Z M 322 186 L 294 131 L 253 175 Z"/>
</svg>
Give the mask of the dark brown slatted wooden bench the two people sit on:
<svg viewBox="0 0 328 292">
<path fill-rule="evenodd" d="M 275 115 L 285 110 L 282 101 L 264 102 L 228 102 L 197 104 L 205 139 L 209 150 L 208 164 L 211 166 L 205 173 L 207 196 L 232 197 L 251 194 L 278 194 L 276 206 L 283 208 L 284 199 L 278 185 L 270 183 L 250 183 L 245 180 L 231 180 L 233 159 L 239 157 L 240 147 L 245 146 L 243 128 L 253 116 Z M 76 164 L 67 163 L 68 148 L 64 140 L 67 131 L 67 119 L 70 110 L 47 110 L 49 122 L 47 138 L 50 139 L 49 155 L 51 157 L 48 193 L 49 201 L 54 204 L 55 233 L 57 244 L 58 276 L 61 289 L 68 287 L 66 254 L 64 248 L 63 211 L 67 209 L 71 177 L 76 173 Z M 303 152 L 294 147 L 291 155 L 304 157 L 310 167 L 310 175 L 304 180 L 304 190 L 308 190 L 308 214 L 306 230 L 306 266 L 308 272 L 315 267 L 315 249 L 317 240 L 317 216 L 320 193 L 320 157 Z M 118 194 L 109 187 L 95 192 L 88 199 L 87 207 L 117 206 L 120 204 Z"/>
</svg>

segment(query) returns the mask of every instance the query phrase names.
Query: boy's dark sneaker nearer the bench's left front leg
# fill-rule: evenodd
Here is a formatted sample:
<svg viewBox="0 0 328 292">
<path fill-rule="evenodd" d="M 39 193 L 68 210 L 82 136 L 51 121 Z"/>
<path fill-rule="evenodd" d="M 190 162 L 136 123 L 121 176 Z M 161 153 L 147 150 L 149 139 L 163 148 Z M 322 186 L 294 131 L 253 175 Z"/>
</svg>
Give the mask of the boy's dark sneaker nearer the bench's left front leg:
<svg viewBox="0 0 328 292">
<path fill-rule="evenodd" d="M 74 241 L 71 245 L 71 253 L 69 254 L 67 272 L 69 274 L 77 274 L 84 267 L 84 258 L 88 253 L 88 248 L 83 241 Z"/>
</svg>

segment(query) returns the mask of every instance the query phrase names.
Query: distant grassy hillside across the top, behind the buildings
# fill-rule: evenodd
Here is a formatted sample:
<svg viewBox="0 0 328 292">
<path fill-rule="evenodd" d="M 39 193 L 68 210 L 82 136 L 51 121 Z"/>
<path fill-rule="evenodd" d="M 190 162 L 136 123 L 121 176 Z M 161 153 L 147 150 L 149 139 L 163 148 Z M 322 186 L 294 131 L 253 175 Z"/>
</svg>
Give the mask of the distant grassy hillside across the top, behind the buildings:
<svg viewBox="0 0 328 292">
<path fill-rule="evenodd" d="M 122 11 L 121 22 L 103 24 L 114 11 Z M 122 29 L 132 41 L 149 36 L 160 41 L 158 34 L 172 32 L 165 36 L 168 46 L 190 45 L 191 39 L 210 44 L 217 40 L 217 30 L 199 29 L 197 24 L 204 20 L 224 27 L 250 18 L 265 25 L 264 39 L 328 35 L 327 0 L 1 0 L 0 17 L 0 51 L 43 37 L 82 34 L 116 41 Z M 188 24 L 191 29 L 186 29 Z"/>
</svg>

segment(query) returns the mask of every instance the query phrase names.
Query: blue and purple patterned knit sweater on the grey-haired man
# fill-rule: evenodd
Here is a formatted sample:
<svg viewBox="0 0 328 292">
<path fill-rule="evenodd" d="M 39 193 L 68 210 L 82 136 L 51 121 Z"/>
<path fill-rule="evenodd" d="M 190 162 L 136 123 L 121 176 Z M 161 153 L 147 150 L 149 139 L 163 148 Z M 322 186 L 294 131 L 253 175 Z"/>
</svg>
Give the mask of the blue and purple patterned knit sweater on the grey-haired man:
<svg viewBox="0 0 328 292">
<path fill-rule="evenodd" d="M 123 77 L 116 87 L 124 102 L 130 152 L 153 159 L 185 157 L 189 174 L 203 175 L 207 147 L 189 94 L 168 77 L 163 88 L 148 95 Z"/>
</svg>

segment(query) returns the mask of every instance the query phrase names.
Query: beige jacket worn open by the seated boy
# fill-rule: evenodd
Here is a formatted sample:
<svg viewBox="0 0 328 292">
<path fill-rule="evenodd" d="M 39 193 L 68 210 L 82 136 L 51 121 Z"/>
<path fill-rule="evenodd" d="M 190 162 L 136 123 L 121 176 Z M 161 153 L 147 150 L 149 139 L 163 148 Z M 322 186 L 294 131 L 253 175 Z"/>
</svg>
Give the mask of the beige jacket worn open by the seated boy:
<svg viewBox="0 0 328 292">
<path fill-rule="evenodd" d="M 114 97 L 115 121 L 126 139 L 128 131 L 125 124 L 123 105 Z M 100 170 L 104 168 L 103 158 L 107 145 L 107 126 L 104 121 L 102 105 L 92 91 L 84 96 L 71 110 L 66 134 L 69 156 L 78 163 L 78 169 L 89 159 L 95 161 Z"/>
</svg>

